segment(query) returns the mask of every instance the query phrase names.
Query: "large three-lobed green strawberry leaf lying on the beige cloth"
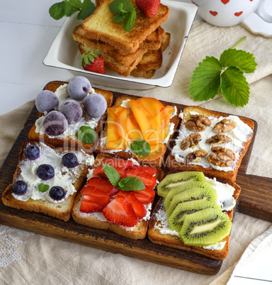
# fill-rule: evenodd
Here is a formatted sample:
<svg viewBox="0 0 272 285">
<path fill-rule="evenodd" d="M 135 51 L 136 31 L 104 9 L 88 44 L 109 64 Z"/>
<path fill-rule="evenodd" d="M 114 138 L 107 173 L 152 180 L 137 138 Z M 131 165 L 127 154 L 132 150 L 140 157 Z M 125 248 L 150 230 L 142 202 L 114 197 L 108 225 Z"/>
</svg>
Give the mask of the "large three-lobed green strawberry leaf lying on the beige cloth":
<svg viewBox="0 0 272 285">
<path fill-rule="evenodd" d="M 249 84 L 244 73 L 254 72 L 257 63 L 253 54 L 236 50 L 234 47 L 222 52 L 220 60 L 207 56 L 199 63 L 193 71 L 189 86 L 190 96 L 193 99 L 208 101 L 221 91 L 229 104 L 243 107 L 248 103 Z"/>
</svg>

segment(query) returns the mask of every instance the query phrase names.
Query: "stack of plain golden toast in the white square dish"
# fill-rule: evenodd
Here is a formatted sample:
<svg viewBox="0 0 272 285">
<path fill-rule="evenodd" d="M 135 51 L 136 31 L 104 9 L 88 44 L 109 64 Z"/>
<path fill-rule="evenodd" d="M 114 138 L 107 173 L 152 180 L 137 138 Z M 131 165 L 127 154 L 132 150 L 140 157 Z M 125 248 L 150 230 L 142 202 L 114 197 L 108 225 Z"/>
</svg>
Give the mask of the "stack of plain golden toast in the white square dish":
<svg viewBox="0 0 272 285">
<path fill-rule="evenodd" d="M 113 21 L 115 14 L 108 6 L 112 1 L 96 1 L 94 14 L 74 28 L 72 35 L 79 43 L 79 52 L 100 50 L 106 69 L 121 76 L 153 77 L 162 67 L 163 52 L 171 38 L 161 27 L 169 18 L 169 8 L 160 4 L 153 18 L 137 13 L 132 30 L 125 31 L 123 23 Z M 139 12 L 135 0 L 131 2 Z"/>
</svg>

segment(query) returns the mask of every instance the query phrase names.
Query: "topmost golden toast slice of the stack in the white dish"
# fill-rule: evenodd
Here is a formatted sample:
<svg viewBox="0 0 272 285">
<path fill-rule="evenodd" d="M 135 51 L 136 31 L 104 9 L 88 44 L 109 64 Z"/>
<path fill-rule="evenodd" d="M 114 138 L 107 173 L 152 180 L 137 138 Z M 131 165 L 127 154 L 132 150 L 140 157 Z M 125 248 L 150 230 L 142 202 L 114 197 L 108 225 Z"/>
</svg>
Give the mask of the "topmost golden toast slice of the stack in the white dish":
<svg viewBox="0 0 272 285">
<path fill-rule="evenodd" d="M 169 8 L 161 4 L 154 18 L 147 18 L 142 13 L 137 13 L 134 26 L 130 32 L 126 32 L 123 23 L 114 23 L 113 14 L 108 5 L 113 0 L 106 0 L 96 8 L 96 11 L 86 18 L 81 24 L 82 34 L 86 38 L 101 40 L 115 47 L 115 50 L 135 52 L 140 44 L 164 21 L 169 18 Z M 136 7 L 135 0 L 131 1 Z M 137 7 L 136 7 L 136 11 Z"/>
</svg>

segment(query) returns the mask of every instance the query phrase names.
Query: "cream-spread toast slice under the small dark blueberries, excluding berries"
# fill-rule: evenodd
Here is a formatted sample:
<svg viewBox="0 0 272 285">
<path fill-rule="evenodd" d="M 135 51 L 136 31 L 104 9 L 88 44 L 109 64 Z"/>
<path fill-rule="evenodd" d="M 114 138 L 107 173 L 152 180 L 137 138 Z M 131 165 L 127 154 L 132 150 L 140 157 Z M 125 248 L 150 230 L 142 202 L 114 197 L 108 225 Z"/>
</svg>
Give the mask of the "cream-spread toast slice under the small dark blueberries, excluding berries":
<svg viewBox="0 0 272 285">
<path fill-rule="evenodd" d="M 29 145 L 39 147 L 40 157 L 36 160 L 29 160 L 25 155 L 26 147 Z M 88 169 L 94 163 L 94 155 L 91 152 L 72 150 L 79 164 L 72 168 L 64 167 L 62 157 L 69 152 L 69 150 L 54 148 L 35 140 L 25 141 L 18 158 L 18 167 L 13 175 L 13 184 L 23 180 L 28 185 L 28 190 L 26 194 L 16 195 L 13 192 L 13 184 L 8 185 L 2 196 L 4 205 L 24 211 L 44 213 L 64 221 L 69 220 L 77 191 L 86 182 Z M 41 164 L 50 164 L 54 168 L 55 176 L 52 179 L 43 180 L 36 175 L 36 169 Z M 49 189 L 45 192 L 39 190 L 39 185 L 42 183 L 49 185 Z M 65 191 L 65 196 L 60 201 L 50 197 L 50 189 L 53 186 L 62 186 Z"/>
</svg>

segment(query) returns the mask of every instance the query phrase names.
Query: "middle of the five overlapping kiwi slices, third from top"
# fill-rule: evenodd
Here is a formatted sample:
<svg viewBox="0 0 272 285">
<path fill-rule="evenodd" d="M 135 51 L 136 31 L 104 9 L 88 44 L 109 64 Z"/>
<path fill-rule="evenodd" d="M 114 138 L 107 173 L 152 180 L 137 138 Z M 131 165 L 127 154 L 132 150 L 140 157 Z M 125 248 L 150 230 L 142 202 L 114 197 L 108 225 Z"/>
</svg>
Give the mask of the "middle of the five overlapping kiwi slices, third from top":
<svg viewBox="0 0 272 285">
<path fill-rule="evenodd" d="M 176 194 L 173 197 L 169 208 L 166 210 L 167 216 L 171 216 L 171 213 L 173 213 L 174 209 L 179 205 L 179 203 L 193 200 L 208 200 L 212 203 L 216 203 L 217 194 L 213 188 L 192 188 L 183 191 L 180 194 Z"/>
</svg>

